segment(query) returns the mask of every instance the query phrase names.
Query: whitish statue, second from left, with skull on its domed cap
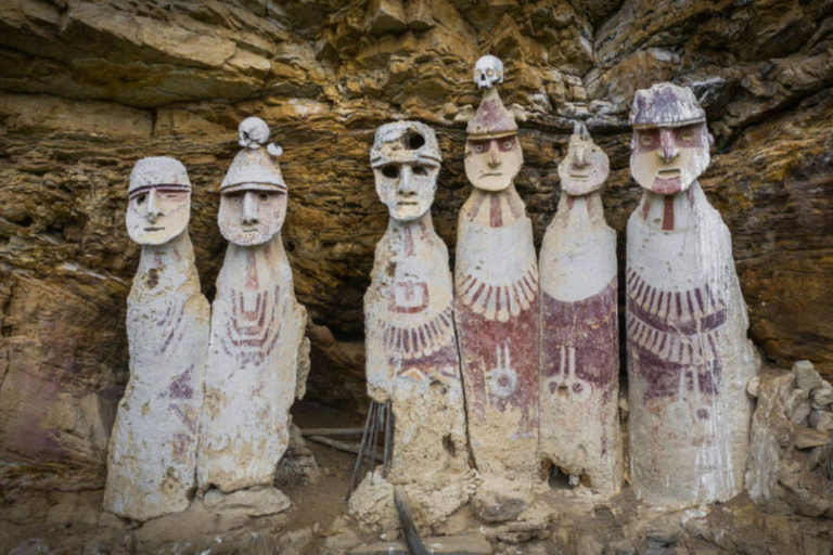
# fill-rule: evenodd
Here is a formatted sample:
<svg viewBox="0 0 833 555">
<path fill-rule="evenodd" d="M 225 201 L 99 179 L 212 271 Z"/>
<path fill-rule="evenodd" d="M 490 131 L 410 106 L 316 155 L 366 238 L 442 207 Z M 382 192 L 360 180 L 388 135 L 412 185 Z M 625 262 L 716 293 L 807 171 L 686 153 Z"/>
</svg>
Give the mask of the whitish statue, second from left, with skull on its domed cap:
<svg viewBox="0 0 833 555">
<path fill-rule="evenodd" d="M 269 129 L 259 118 L 243 120 L 240 137 L 243 150 L 220 185 L 218 222 L 229 247 L 212 306 L 197 477 L 202 491 L 267 490 L 269 512 L 278 512 L 289 506 L 272 481 L 289 442 L 306 310 L 280 233 L 280 149 L 264 144 Z"/>
</svg>

